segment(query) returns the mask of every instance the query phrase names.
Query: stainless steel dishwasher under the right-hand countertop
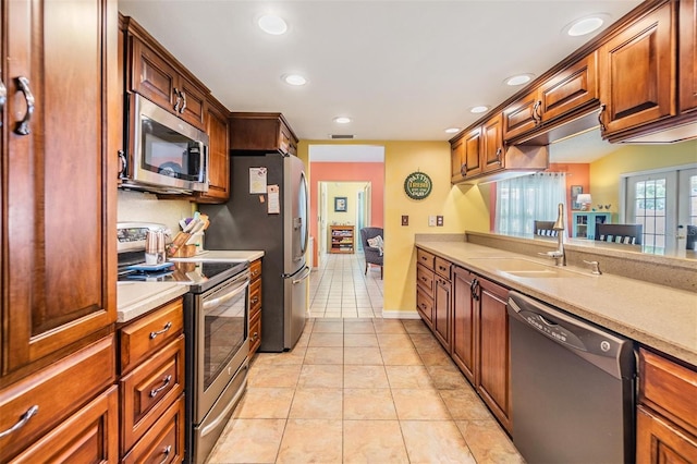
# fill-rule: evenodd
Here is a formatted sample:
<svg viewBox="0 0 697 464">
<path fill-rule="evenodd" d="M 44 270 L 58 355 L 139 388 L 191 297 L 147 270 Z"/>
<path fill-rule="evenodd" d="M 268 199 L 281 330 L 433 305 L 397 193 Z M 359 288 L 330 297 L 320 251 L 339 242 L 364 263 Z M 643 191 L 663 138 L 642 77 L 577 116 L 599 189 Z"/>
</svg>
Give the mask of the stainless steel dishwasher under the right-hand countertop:
<svg viewBox="0 0 697 464">
<path fill-rule="evenodd" d="M 509 294 L 511 437 L 530 463 L 634 461 L 634 343 Z"/>
</svg>

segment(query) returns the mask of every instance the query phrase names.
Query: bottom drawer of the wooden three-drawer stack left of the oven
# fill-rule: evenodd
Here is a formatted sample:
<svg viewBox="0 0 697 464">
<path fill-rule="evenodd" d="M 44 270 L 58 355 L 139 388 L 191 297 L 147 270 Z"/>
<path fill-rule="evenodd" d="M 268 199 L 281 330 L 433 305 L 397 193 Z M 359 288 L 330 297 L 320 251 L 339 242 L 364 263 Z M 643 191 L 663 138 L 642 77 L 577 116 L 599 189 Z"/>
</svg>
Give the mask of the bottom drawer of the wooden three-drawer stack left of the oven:
<svg viewBox="0 0 697 464">
<path fill-rule="evenodd" d="M 184 459 L 184 396 L 180 396 L 126 454 L 123 463 L 181 463 Z"/>
</svg>

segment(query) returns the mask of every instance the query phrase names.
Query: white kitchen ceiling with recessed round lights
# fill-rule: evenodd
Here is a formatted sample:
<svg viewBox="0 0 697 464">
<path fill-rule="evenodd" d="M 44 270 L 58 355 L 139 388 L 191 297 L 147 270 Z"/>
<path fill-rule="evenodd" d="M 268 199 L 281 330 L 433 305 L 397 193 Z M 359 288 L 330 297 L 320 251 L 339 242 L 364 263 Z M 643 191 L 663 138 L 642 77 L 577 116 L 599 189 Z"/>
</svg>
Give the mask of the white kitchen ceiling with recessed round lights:
<svg viewBox="0 0 697 464">
<path fill-rule="evenodd" d="M 572 21 L 619 20 L 638 0 L 130 0 L 133 16 L 232 111 L 282 112 L 302 139 L 447 141 L 518 88 L 503 80 L 539 75 L 591 36 Z M 257 19 L 285 19 L 271 36 Z M 308 78 L 291 87 L 282 74 Z M 346 115 L 350 124 L 332 118 Z"/>
</svg>

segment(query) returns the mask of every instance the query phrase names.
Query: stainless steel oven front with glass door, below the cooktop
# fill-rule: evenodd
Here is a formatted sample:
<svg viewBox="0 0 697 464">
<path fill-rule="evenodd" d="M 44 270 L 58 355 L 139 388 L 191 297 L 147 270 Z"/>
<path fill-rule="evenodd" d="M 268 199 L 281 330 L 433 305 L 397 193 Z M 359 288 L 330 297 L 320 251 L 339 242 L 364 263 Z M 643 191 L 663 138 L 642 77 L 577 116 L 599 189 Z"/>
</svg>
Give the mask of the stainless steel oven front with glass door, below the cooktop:
<svg viewBox="0 0 697 464">
<path fill-rule="evenodd" d="M 247 383 L 249 270 L 184 296 L 186 454 L 203 463 Z"/>
</svg>

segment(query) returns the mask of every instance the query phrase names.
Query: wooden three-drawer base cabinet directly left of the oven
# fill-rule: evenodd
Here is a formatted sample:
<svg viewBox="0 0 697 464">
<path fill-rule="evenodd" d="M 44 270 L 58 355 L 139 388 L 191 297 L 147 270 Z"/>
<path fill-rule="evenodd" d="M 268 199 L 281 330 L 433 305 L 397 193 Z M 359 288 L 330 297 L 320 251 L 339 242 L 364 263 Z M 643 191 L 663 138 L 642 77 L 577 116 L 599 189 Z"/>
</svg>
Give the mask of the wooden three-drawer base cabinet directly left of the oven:
<svg viewBox="0 0 697 464">
<path fill-rule="evenodd" d="M 182 298 L 126 322 L 118 333 L 120 455 L 125 462 L 181 462 L 185 384 Z"/>
</svg>

